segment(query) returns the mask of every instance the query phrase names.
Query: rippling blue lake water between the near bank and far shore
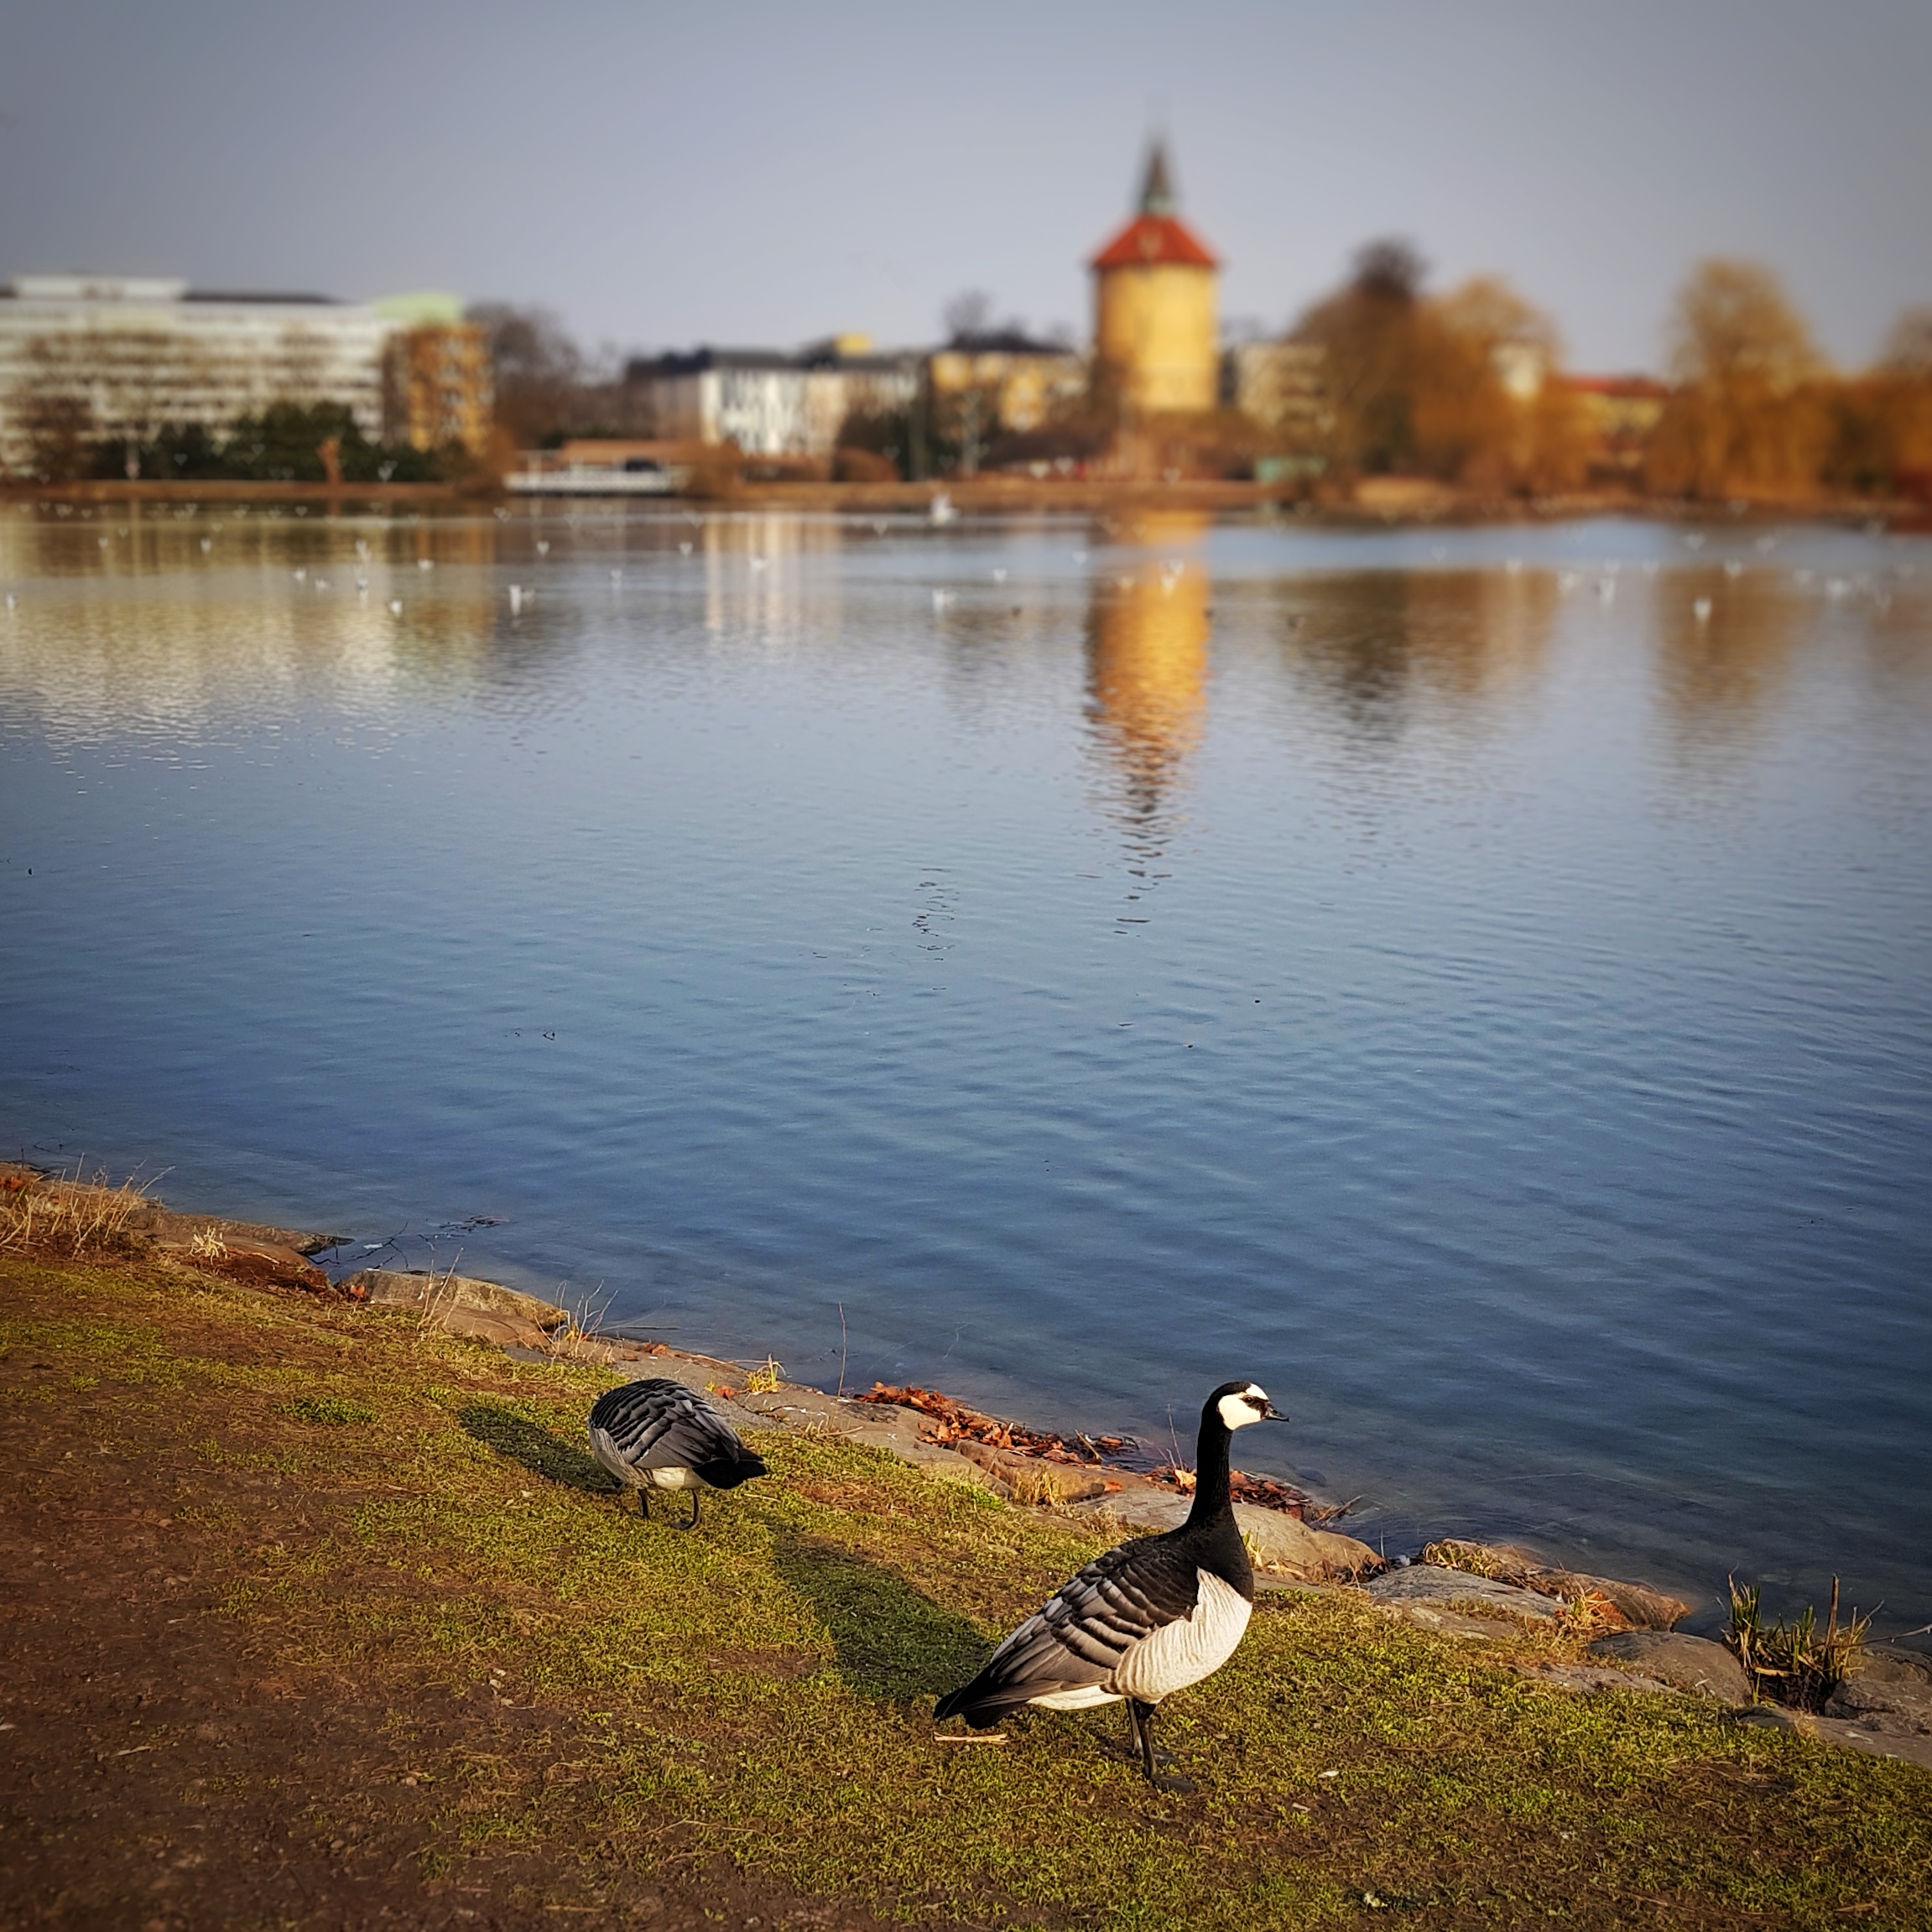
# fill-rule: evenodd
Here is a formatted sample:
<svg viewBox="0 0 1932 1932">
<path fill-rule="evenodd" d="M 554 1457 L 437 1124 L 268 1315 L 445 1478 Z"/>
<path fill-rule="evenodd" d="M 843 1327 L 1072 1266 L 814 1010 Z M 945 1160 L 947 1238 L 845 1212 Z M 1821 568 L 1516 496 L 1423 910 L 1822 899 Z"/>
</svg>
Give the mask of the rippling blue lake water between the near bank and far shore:
<svg viewBox="0 0 1932 1932">
<path fill-rule="evenodd" d="M 6 1151 L 1932 1617 L 1926 539 L 23 508 L 0 589 Z"/>
</svg>

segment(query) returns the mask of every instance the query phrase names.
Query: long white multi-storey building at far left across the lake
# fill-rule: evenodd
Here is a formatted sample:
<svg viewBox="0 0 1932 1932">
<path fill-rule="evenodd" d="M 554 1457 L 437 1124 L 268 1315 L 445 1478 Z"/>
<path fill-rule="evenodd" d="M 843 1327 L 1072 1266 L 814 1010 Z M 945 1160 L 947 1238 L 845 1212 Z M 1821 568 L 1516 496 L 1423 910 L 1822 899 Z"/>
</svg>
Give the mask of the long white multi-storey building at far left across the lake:
<svg viewBox="0 0 1932 1932">
<path fill-rule="evenodd" d="M 21 274 L 0 290 L 0 471 L 35 473 L 50 425 L 149 440 L 272 402 L 340 402 L 383 437 L 398 323 L 325 296 L 226 296 L 162 276 Z"/>
</svg>

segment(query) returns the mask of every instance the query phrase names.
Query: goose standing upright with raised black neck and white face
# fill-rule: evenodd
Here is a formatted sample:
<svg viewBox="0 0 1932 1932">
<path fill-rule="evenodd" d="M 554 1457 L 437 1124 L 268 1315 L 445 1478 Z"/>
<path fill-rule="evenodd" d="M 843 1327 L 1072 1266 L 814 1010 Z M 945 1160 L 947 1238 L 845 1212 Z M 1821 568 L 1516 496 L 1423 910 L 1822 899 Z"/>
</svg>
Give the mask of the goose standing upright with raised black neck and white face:
<svg viewBox="0 0 1932 1932">
<path fill-rule="evenodd" d="M 1248 1629 L 1254 1567 L 1235 1522 L 1227 1445 L 1250 1422 L 1287 1420 L 1252 1381 L 1223 1381 L 1202 1406 L 1188 1520 L 1095 1557 L 970 1685 L 943 1696 L 933 1716 L 964 1718 L 983 1731 L 1022 1704 L 1088 1710 L 1124 1702 L 1150 1783 L 1192 1791 L 1186 1777 L 1163 1777 L 1155 1766 L 1153 1712 L 1169 1692 L 1227 1663 Z"/>
</svg>

